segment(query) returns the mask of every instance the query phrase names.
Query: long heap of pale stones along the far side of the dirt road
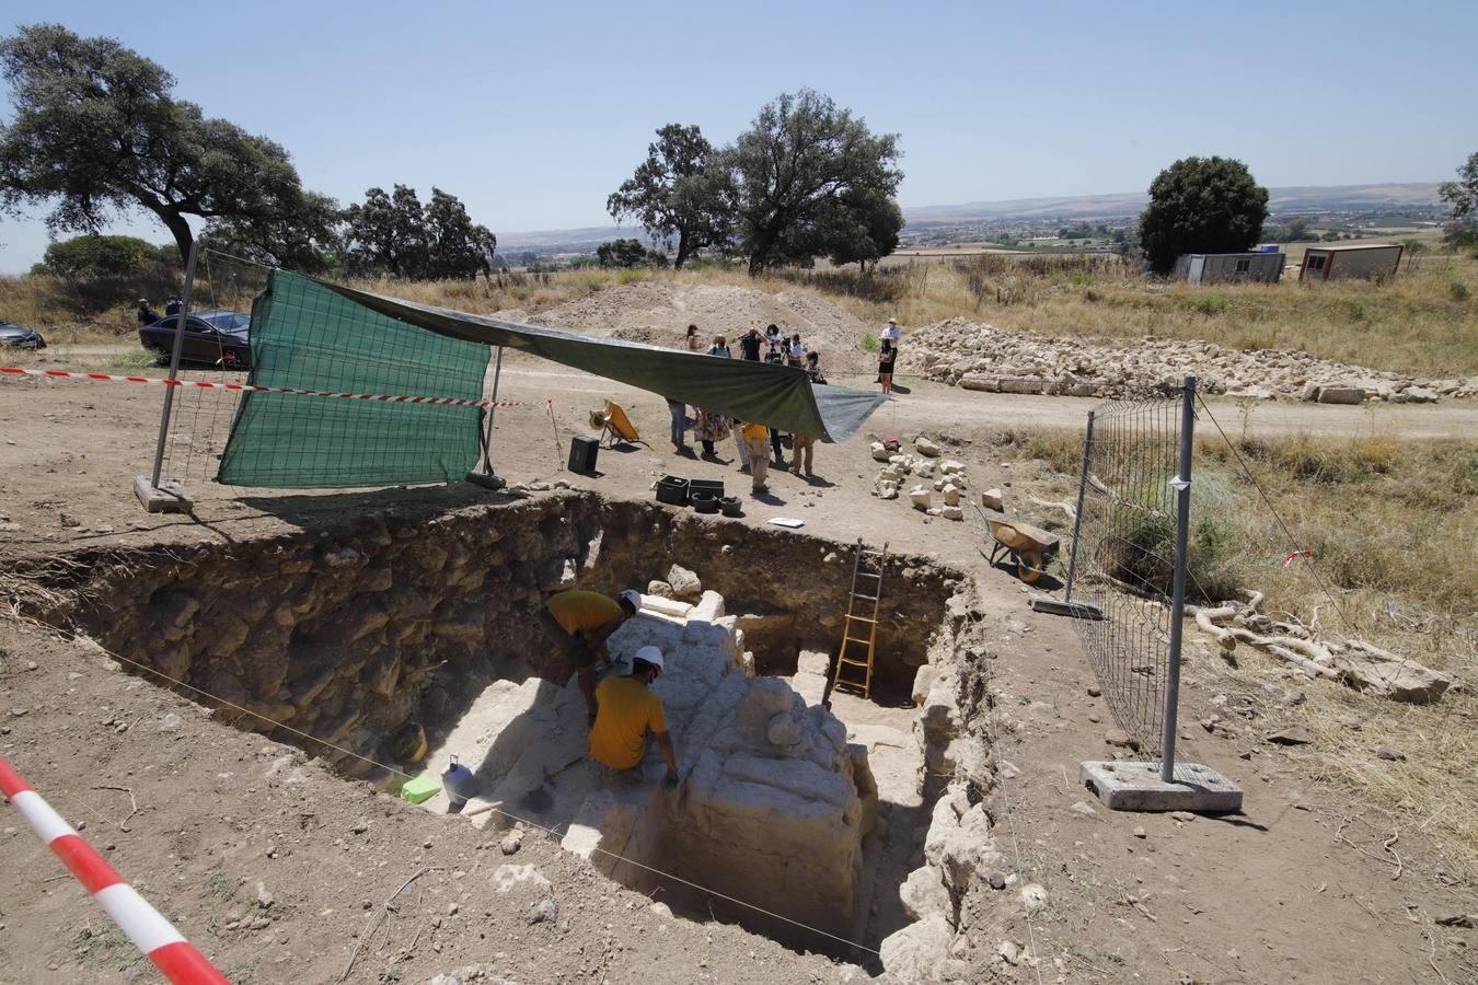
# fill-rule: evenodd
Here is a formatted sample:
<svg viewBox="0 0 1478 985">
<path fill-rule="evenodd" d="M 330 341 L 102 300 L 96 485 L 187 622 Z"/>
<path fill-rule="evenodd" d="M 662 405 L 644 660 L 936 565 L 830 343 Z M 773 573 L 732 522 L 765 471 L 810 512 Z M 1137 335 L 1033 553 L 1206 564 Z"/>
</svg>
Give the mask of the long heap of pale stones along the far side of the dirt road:
<svg viewBox="0 0 1478 985">
<path fill-rule="evenodd" d="M 1253 400 L 1434 403 L 1478 397 L 1478 377 L 1417 380 L 1308 353 L 1247 351 L 1206 341 L 1048 338 L 964 318 L 910 332 L 900 357 L 902 372 L 989 393 L 1117 399 L 1169 391 L 1191 375 L 1202 393 Z"/>
</svg>

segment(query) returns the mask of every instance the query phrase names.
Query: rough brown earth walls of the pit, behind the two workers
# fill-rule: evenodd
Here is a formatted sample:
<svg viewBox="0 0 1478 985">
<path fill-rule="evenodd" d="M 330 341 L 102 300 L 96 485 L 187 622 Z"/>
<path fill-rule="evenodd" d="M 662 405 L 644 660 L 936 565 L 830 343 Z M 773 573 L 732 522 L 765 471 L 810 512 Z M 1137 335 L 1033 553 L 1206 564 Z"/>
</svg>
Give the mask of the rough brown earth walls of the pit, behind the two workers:
<svg viewBox="0 0 1478 985">
<path fill-rule="evenodd" d="M 851 545 L 565 492 L 436 517 L 380 512 L 316 532 L 234 543 L 74 555 L 74 601 L 38 613 L 112 653 L 386 762 L 401 727 L 455 722 L 497 679 L 565 681 L 571 667 L 534 622 L 545 591 L 616 591 L 675 561 L 745 614 L 763 672 L 794 670 L 803 648 L 835 650 Z M 875 694 L 906 700 L 958 586 L 927 558 L 890 558 Z M 361 759 L 251 716 L 238 725 L 325 755 Z"/>
</svg>

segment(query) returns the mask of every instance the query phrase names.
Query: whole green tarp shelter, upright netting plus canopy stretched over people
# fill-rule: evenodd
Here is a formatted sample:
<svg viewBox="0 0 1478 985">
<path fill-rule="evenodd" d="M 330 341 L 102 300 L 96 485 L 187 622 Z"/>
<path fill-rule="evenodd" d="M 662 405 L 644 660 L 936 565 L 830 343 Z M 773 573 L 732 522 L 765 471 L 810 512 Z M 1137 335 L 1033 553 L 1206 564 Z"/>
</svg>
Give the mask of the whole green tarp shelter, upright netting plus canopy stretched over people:
<svg viewBox="0 0 1478 985">
<path fill-rule="evenodd" d="M 491 346 L 823 442 L 850 437 L 887 397 L 813 385 L 803 369 L 588 338 L 273 270 L 251 309 L 263 387 L 387 396 L 483 396 Z M 392 486 L 463 478 L 482 411 L 244 394 L 217 480 L 232 486 Z"/>
</svg>

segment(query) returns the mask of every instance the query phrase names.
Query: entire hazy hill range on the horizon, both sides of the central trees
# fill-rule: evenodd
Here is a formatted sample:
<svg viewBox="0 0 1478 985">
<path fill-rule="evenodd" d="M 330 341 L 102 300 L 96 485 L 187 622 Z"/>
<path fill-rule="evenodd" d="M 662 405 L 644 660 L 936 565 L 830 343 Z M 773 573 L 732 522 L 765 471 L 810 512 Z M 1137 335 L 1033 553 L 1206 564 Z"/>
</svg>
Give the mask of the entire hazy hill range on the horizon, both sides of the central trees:
<svg viewBox="0 0 1478 985">
<path fill-rule="evenodd" d="M 912 229 L 1007 219 L 1117 219 L 1138 216 L 1148 201 L 1150 196 L 1145 192 L 1079 195 L 1076 198 L 1012 198 L 999 202 L 921 205 L 918 208 L 905 208 L 903 217 Z M 1438 204 L 1437 182 L 1409 182 L 1404 185 L 1298 185 L 1268 189 L 1268 208 L 1274 213 L 1370 211 Z M 500 232 L 498 251 L 503 254 L 525 250 L 545 254 L 594 253 L 600 244 L 619 238 L 640 239 L 643 244 L 652 245 L 646 233 L 633 226 L 585 226 L 582 229 Z"/>
</svg>

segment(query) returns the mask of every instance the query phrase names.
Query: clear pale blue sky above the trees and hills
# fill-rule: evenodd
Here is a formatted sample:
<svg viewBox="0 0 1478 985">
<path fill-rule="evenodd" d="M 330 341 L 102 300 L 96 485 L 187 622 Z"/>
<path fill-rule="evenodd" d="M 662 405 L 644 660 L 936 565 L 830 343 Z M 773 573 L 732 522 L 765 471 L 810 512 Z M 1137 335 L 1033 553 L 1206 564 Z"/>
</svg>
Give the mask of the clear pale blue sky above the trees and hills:
<svg viewBox="0 0 1478 985">
<path fill-rule="evenodd" d="M 1445 180 L 1478 149 L 1471 1 L 9 0 L 0 16 L 149 55 L 177 96 L 282 143 L 309 188 L 437 185 L 495 232 L 606 223 L 656 127 L 721 143 L 803 86 L 902 134 L 905 207 L 1137 191 L 1190 154 L 1270 186 Z M 168 239 L 148 220 L 117 232 Z M 46 242 L 0 220 L 0 272 Z"/>
</svg>

